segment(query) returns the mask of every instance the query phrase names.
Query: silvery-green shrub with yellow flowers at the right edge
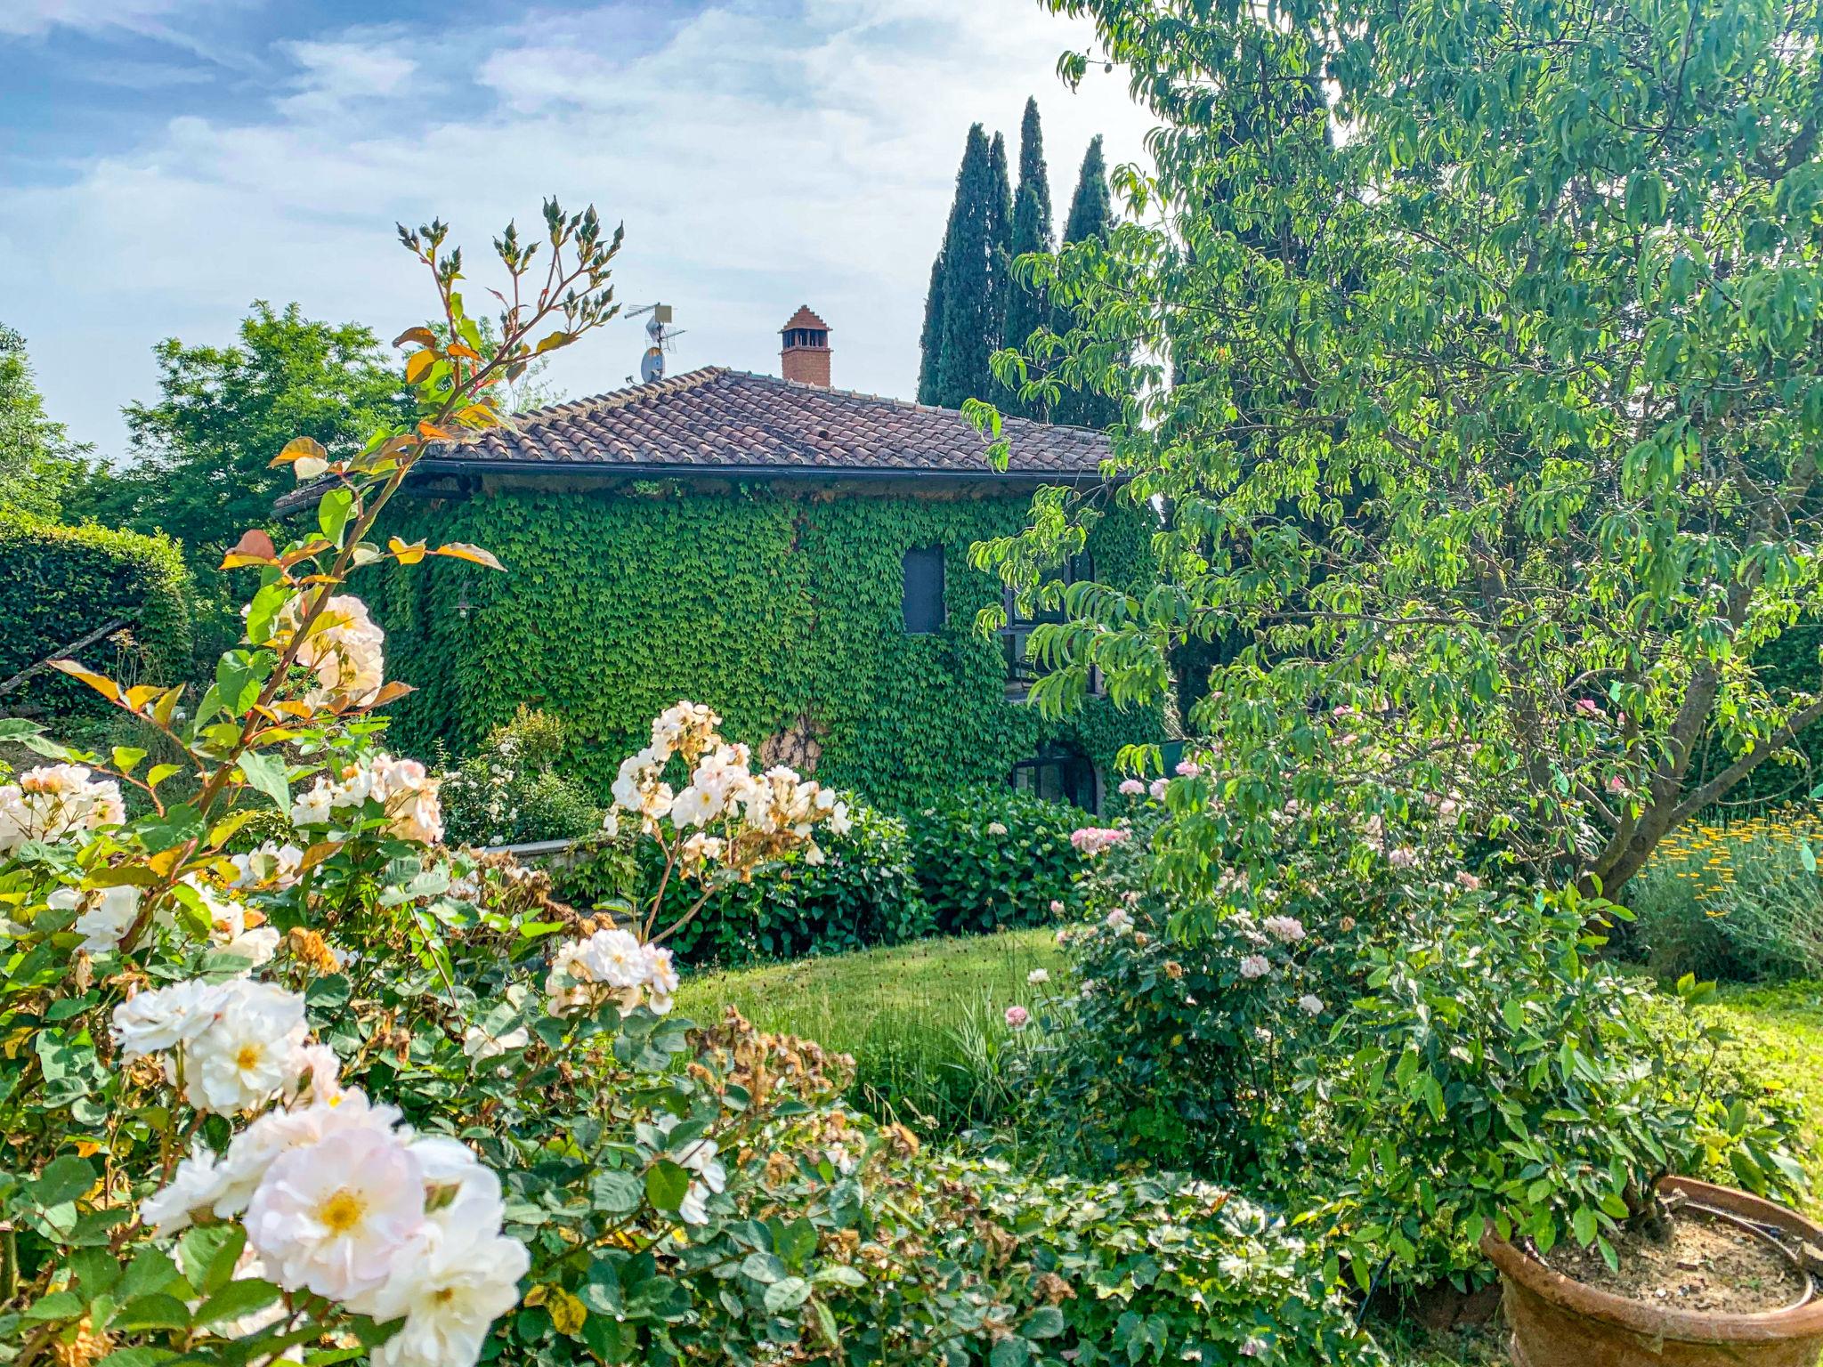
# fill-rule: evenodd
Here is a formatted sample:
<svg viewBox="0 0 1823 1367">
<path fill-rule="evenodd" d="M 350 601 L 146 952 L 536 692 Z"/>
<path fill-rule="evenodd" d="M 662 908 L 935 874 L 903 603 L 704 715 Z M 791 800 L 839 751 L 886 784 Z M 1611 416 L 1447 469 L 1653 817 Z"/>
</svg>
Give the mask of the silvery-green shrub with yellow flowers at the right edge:
<svg viewBox="0 0 1823 1367">
<path fill-rule="evenodd" d="M 1776 807 L 1668 835 L 1626 886 L 1652 970 L 1735 982 L 1823 977 L 1823 820 Z"/>
</svg>

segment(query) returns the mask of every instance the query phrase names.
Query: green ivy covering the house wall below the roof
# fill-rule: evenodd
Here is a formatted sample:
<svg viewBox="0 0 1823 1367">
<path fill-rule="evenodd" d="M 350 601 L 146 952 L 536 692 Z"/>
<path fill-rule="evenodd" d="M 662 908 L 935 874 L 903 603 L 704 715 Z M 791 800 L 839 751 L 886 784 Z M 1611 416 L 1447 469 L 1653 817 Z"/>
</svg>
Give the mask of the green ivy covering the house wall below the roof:
<svg viewBox="0 0 1823 1367">
<path fill-rule="evenodd" d="M 808 733 L 820 780 L 888 807 L 1004 780 L 1050 738 L 1107 775 L 1123 744 L 1158 736 L 1158 716 L 1092 700 L 1048 724 L 1004 696 L 999 645 L 973 634 L 999 585 L 970 569 L 968 549 L 1017 529 L 1025 510 L 1023 496 L 671 481 L 407 494 L 388 532 L 474 541 L 507 574 L 434 560 L 388 580 L 377 603 L 388 674 L 417 685 L 397 709 L 401 742 L 463 753 L 525 702 L 563 716 L 567 767 L 605 793 L 651 718 L 691 698 L 757 753 L 778 733 Z M 948 622 L 912 636 L 902 556 L 933 543 Z M 1097 578 L 1147 576 L 1134 510 L 1105 518 L 1088 549 Z"/>
</svg>

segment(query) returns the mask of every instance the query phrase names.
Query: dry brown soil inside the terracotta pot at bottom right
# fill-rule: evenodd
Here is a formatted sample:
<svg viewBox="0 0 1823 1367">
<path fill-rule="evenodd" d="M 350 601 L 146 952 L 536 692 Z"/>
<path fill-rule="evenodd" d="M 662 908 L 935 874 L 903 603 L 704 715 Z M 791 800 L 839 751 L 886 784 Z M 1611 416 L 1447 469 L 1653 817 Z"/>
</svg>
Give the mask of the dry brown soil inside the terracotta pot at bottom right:
<svg viewBox="0 0 1823 1367">
<path fill-rule="evenodd" d="M 1613 1250 L 1619 1269 L 1608 1267 L 1599 1249 L 1573 1243 L 1557 1245 L 1542 1261 L 1584 1287 L 1666 1310 L 1783 1310 L 1810 1287 L 1810 1278 L 1766 1239 L 1688 1207 L 1672 1221 L 1670 1239 L 1624 1234 L 1613 1239 Z"/>
</svg>

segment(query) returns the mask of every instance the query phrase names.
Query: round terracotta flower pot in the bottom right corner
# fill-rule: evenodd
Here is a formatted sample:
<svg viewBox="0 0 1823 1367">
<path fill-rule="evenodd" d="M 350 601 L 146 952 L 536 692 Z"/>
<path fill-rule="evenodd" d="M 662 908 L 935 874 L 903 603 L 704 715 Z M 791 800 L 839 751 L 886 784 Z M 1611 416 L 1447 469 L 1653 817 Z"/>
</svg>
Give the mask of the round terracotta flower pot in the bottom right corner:
<svg viewBox="0 0 1823 1367">
<path fill-rule="evenodd" d="M 1823 1228 L 1772 1201 L 1688 1177 L 1668 1177 L 1663 1190 L 1823 1249 Z M 1672 1310 L 1571 1281 L 1491 1230 L 1482 1252 L 1506 1287 L 1515 1367 L 1816 1367 L 1823 1352 L 1823 1298 L 1814 1285 L 1781 1310 Z"/>
</svg>

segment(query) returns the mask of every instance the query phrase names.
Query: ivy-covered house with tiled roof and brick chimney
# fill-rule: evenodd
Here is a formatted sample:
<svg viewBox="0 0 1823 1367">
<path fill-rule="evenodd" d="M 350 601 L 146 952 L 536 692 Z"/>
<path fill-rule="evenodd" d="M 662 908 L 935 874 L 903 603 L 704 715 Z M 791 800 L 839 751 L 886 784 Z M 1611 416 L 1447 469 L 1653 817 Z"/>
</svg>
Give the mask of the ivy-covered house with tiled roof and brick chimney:
<svg viewBox="0 0 1823 1367">
<path fill-rule="evenodd" d="M 574 769 L 605 791 L 651 716 L 691 698 L 766 762 L 877 804 L 1010 782 L 1096 809 L 1158 718 L 1025 705 L 1032 622 L 975 632 L 1003 589 L 968 552 L 1019 529 L 1039 485 L 1097 479 L 1105 437 L 1008 419 L 994 470 L 961 414 L 829 388 L 808 308 L 782 337 L 784 379 L 693 370 L 419 461 L 386 530 L 474 541 L 507 572 L 388 581 L 388 673 L 417 685 L 405 744 L 461 753 L 523 702 L 569 724 Z M 1139 512 L 1110 512 L 1072 572 L 1139 581 L 1147 541 Z"/>
</svg>

